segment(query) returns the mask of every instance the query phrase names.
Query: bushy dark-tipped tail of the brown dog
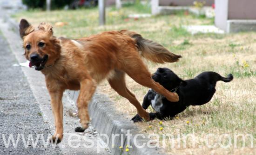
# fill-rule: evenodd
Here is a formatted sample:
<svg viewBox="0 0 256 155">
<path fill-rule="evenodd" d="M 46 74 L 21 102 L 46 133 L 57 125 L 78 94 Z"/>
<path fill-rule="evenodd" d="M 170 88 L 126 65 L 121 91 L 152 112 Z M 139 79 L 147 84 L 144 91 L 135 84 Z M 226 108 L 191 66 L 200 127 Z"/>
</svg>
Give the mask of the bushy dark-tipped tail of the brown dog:
<svg viewBox="0 0 256 155">
<path fill-rule="evenodd" d="M 137 34 L 136 32 L 121 30 L 121 33 L 127 34 L 130 37 L 134 38 L 136 40 L 138 50 L 141 51 L 141 56 L 152 62 L 177 62 L 179 61 L 179 58 L 182 57 L 170 52 L 159 43 L 155 43 L 151 40 L 143 38 L 140 34 Z"/>
</svg>

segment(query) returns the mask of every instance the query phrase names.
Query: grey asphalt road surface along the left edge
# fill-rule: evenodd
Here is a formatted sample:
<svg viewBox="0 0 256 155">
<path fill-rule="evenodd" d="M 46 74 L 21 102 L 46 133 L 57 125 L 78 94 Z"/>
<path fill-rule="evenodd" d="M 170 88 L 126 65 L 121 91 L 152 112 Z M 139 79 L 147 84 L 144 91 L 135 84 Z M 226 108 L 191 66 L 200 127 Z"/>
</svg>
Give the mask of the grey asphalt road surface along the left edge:
<svg viewBox="0 0 256 155">
<path fill-rule="evenodd" d="M 20 66 L 13 66 L 17 61 L 2 35 L 0 35 L 0 47 L 0 154 L 61 154 L 58 146 L 45 148 L 41 140 L 34 148 L 32 143 L 29 143 L 27 148 L 24 146 L 22 135 L 27 140 L 29 134 L 32 134 L 34 139 L 37 134 L 42 134 L 47 141 L 47 136 L 51 135 L 50 128 L 41 116 L 39 105 Z M 8 147 L 6 144 L 9 136 L 13 135 L 16 141 L 19 134 L 20 141 L 17 147 L 14 148 L 12 142 Z"/>
</svg>

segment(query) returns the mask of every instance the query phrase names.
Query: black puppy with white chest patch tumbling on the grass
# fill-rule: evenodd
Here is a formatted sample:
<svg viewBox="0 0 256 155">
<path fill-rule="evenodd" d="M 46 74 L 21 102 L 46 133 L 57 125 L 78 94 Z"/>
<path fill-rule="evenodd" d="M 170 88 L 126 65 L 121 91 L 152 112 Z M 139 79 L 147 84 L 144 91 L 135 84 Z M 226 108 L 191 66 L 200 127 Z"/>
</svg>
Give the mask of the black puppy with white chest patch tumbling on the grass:
<svg viewBox="0 0 256 155">
<path fill-rule="evenodd" d="M 206 104 L 216 91 L 216 82 L 229 82 L 233 79 L 233 75 L 229 74 L 225 78 L 215 72 L 203 72 L 194 79 L 183 81 L 170 69 L 158 68 L 152 78 L 167 90 L 179 95 L 178 102 L 170 102 L 161 94 L 150 89 L 144 97 L 142 107 L 147 109 L 151 105 L 155 110 L 155 113 L 149 113 L 150 119 L 164 119 L 172 118 L 183 112 L 189 105 Z M 137 114 L 132 120 L 138 122 L 142 121 L 142 118 Z"/>
</svg>

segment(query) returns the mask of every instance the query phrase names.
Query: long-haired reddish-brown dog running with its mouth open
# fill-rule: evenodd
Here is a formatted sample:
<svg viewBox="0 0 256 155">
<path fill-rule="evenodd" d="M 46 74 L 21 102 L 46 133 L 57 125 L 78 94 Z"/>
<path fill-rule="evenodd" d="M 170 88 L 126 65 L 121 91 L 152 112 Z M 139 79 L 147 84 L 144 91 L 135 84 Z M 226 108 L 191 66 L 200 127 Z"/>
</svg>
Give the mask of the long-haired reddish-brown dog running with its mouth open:
<svg viewBox="0 0 256 155">
<path fill-rule="evenodd" d="M 106 78 L 110 86 L 128 99 L 141 118 L 146 120 L 149 120 L 148 112 L 126 87 L 125 74 L 172 102 L 179 100 L 176 93 L 169 92 L 151 79 L 151 74 L 141 60 L 143 56 L 158 63 L 178 61 L 181 56 L 169 52 L 162 45 L 127 30 L 108 31 L 73 40 L 54 37 L 52 28 L 48 23 L 41 23 L 38 30 L 35 30 L 27 20 L 20 21 L 24 55 L 30 61 L 30 67 L 34 66 L 45 75 L 51 96 L 56 126 L 54 142 L 61 142 L 63 137 L 61 98 L 65 89 L 80 90 L 77 106 L 82 127 L 76 131 L 83 131 L 88 127 L 88 103 L 96 85 Z"/>
</svg>

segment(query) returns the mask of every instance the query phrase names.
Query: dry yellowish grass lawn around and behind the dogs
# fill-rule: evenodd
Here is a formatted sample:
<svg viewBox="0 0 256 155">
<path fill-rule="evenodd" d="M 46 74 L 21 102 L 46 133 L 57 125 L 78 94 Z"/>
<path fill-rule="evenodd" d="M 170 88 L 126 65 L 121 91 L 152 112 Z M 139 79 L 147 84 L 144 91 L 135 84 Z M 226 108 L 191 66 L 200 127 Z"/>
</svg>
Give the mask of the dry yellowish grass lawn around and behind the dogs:
<svg viewBox="0 0 256 155">
<path fill-rule="evenodd" d="M 215 134 L 216 137 L 223 133 L 252 134 L 255 142 L 255 121 L 256 121 L 256 33 L 244 32 L 238 34 L 197 34 L 190 35 L 181 28 L 181 25 L 205 25 L 211 24 L 211 19 L 198 19 L 192 15 L 183 15 L 181 12 L 176 15 L 158 16 L 146 19 L 129 19 L 126 16 L 130 12 L 139 12 L 134 7 L 123 8 L 116 11 L 108 9 L 108 22 L 106 26 L 97 26 L 97 10 L 77 11 L 54 11 L 21 12 L 16 14 L 16 19 L 26 18 L 33 24 L 42 21 L 51 23 L 67 22 L 64 27 L 55 27 L 56 36 L 64 37 L 85 37 L 94 33 L 107 30 L 129 29 L 141 33 L 148 39 L 162 43 L 176 54 L 183 56 L 180 62 L 168 64 L 154 64 L 146 62 L 151 73 L 158 67 L 171 68 L 183 79 L 193 78 L 202 71 L 215 71 L 227 75 L 232 73 L 234 80 L 230 83 L 218 82 L 216 93 L 211 101 L 202 106 L 191 106 L 184 112 L 177 115 L 177 118 L 163 121 L 162 125 L 154 120 L 150 122 L 137 123 L 142 133 L 156 133 L 162 136 L 165 133 L 173 135 L 194 133 L 196 139 L 195 147 L 192 141 L 187 141 L 186 148 L 170 146 L 170 142 L 164 147 L 170 154 L 256 154 L 256 149 L 250 148 L 247 140 L 245 147 L 239 145 L 234 148 L 222 149 L 217 146 L 214 149 L 206 147 L 203 141 L 207 134 Z M 141 12 L 141 11 L 140 11 Z M 248 66 L 249 65 L 249 66 Z M 142 87 L 127 77 L 128 88 L 135 93 L 141 102 L 148 88 Z M 126 99 L 115 93 L 105 81 L 98 87 L 103 93 L 116 102 L 116 108 L 132 118 L 136 114 L 133 107 Z M 148 111 L 152 111 L 149 108 Z M 187 123 L 189 121 L 189 123 Z M 160 130 L 160 127 L 163 130 Z M 177 137 L 175 136 L 175 142 Z M 209 138 L 209 143 L 216 142 L 216 138 Z M 227 139 L 223 138 L 223 144 Z M 160 143 L 162 144 L 162 143 Z M 183 143 L 181 143 L 183 145 Z"/>
</svg>

